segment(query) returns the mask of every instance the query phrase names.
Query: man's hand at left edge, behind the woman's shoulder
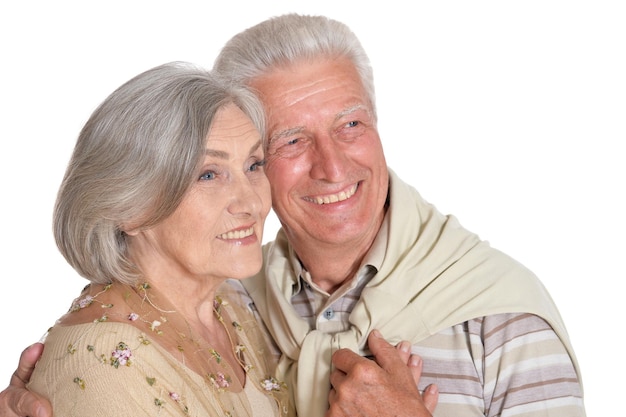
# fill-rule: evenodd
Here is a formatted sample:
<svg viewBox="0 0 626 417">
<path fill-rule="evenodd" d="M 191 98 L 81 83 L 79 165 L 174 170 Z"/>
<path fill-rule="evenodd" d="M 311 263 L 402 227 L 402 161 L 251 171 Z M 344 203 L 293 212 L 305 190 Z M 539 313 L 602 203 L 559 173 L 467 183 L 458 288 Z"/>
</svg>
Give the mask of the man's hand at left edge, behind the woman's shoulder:
<svg viewBox="0 0 626 417">
<path fill-rule="evenodd" d="M 35 369 L 43 344 L 35 343 L 26 348 L 20 356 L 20 363 L 11 376 L 11 383 L 0 392 L 0 411 L 2 417 L 52 417 L 50 403 L 26 389 L 26 383 Z"/>
</svg>

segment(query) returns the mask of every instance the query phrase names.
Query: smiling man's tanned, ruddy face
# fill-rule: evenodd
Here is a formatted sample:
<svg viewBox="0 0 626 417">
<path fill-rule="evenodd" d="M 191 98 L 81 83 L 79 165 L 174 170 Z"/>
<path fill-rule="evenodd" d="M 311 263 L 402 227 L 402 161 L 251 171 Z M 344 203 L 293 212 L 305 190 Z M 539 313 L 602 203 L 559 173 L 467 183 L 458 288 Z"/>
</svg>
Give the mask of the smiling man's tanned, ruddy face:
<svg viewBox="0 0 626 417">
<path fill-rule="evenodd" d="M 384 216 L 388 172 L 352 63 L 302 61 L 251 86 L 267 111 L 266 173 L 289 239 L 369 247 Z"/>
</svg>

